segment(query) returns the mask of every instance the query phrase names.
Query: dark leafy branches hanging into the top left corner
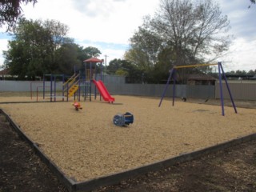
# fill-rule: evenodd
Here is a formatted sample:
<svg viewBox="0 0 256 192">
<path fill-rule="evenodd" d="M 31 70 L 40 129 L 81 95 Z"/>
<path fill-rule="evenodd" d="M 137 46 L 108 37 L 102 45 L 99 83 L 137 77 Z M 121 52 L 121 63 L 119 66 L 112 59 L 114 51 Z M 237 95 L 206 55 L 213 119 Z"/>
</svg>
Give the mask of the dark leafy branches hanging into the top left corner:
<svg viewBox="0 0 256 192">
<path fill-rule="evenodd" d="M 37 3 L 37 0 L 0 0 L 0 27 L 7 24 L 10 30 L 16 25 L 18 18 L 22 17 L 21 4 L 28 4 L 33 2 L 33 5 Z"/>
</svg>

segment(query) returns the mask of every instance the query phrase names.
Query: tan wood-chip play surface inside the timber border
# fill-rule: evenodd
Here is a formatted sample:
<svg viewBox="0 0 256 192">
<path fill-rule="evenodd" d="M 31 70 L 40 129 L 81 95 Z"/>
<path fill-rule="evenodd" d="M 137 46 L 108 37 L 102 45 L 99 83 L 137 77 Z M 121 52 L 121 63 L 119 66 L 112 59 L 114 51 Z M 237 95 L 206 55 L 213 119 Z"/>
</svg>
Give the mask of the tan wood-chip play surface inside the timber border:
<svg viewBox="0 0 256 192">
<path fill-rule="evenodd" d="M 0 104 L 43 152 L 70 178 L 86 181 L 214 146 L 256 131 L 255 109 L 170 98 L 114 95 L 113 104 L 97 100 L 31 102 L 30 97 L 1 97 Z M 134 123 L 115 126 L 118 113 L 134 114 Z"/>
</svg>

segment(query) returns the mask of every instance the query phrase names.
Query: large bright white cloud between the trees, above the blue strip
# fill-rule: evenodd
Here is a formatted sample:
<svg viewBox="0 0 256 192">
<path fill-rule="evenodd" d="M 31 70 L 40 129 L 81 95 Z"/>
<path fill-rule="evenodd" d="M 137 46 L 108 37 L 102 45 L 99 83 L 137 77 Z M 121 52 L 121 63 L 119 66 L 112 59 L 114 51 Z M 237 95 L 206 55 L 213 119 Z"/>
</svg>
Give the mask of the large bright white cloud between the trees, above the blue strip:
<svg viewBox="0 0 256 192">
<path fill-rule="evenodd" d="M 70 26 L 70 38 L 94 42 L 128 43 L 158 0 L 44 0 L 23 7 L 26 18 L 54 19 Z"/>
</svg>

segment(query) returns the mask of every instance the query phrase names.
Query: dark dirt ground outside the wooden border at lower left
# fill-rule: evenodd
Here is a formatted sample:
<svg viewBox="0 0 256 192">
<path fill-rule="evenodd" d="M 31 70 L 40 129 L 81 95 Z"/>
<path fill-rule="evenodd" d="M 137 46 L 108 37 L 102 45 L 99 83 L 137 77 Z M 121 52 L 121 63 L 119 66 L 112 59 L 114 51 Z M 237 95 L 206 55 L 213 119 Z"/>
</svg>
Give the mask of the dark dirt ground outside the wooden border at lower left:
<svg viewBox="0 0 256 192">
<path fill-rule="evenodd" d="M 66 188 L 18 137 L 0 114 L 0 191 L 62 191 Z"/>
</svg>

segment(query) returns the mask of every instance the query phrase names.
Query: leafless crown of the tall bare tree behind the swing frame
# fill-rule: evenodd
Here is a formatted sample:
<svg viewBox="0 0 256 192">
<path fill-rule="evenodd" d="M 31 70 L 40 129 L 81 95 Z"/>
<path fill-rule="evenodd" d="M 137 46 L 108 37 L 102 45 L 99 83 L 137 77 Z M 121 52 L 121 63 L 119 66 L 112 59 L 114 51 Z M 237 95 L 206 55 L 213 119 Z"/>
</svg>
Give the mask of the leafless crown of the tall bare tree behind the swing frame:
<svg viewBox="0 0 256 192">
<path fill-rule="evenodd" d="M 153 30 L 174 47 L 177 65 L 218 58 L 230 43 L 230 25 L 211 0 L 162 0 Z"/>
</svg>

